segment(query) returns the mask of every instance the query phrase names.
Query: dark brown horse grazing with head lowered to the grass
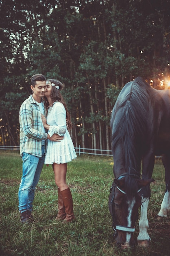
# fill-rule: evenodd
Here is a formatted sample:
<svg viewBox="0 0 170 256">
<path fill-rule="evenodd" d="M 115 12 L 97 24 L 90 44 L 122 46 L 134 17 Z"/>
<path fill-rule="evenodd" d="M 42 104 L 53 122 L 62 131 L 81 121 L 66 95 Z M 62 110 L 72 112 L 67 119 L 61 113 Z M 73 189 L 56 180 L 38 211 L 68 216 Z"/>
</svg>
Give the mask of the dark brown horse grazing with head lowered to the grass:
<svg viewBox="0 0 170 256">
<path fill-rule="evenodd" d="M 158 216 L 167 217 L 170 211 L 170 90 L 155 90 L 137 77 L 120 92 L 110 126 L 115 179 L 109 210 L 116 241 L 122 248 L 135 244 L 133 232 L 141 206 L 137 242 L 148 246 L 147 209 L 155 155 L 162 155 L 166 181 Z"/>
</svg>

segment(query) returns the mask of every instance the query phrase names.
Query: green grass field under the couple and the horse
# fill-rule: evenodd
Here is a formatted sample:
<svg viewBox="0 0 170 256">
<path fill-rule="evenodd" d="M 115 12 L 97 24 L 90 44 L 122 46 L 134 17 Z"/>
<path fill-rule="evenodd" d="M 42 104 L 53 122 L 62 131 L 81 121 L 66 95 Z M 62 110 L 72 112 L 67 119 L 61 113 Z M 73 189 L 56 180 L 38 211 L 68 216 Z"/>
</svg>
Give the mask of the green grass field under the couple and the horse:
<svg viewBox="0 0 170 256">
<path fill-rule="evenodd" d="M 169 219 L 156 219 L 165 190 L 164 168 L 155 161 L 148 208 L 149 235 L 146 249 L 121 251 L 115 246 L 108 209 L 113 181 L 111 157 L 82 156 L 68 163 L 67 182 L 74 201 L 74 223 L 56 222 L 57 187 L 51 166 L 44 165 L 34 200 L 34 222 L 20 224 L 18 188 L 22 160 L 18 151 L 0 151 L 0 255 L 22 256 L 168 256 Z M 134 233 L 138 234 L 138 223 Z"/>
</svg>

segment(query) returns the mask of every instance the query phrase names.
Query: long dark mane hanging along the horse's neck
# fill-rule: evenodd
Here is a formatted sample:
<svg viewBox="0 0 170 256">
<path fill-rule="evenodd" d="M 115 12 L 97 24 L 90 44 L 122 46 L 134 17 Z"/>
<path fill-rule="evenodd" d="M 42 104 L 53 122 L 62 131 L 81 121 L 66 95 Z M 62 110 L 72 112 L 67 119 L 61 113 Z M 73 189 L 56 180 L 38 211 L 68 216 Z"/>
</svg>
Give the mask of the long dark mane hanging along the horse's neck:
<svg viewBox="0 0 170 256">
<path fill-rule="evenodd" d="M 125 172 L 140 174 L 141 157 L 146 141 L 146 118 L 149 110 L 150 85 L 141 77 L 137 77 L 131 85 L 131 90 L 125 98 L 119 98 L 115 113 L 119 111 L 119 122 L 112 131 L 112 150 L 122 145 L 122 157 L 124 158 Z M 114 155 L 113 155 L 114 158 Z M 126 189 L 135 190 L 137 184 L 131 184 L 135 179 L 126 176 Z M 130 191 L 129 191 L 130 192 Z M 131 191 L 133 193 L 133 191 Z"/>
</svg>

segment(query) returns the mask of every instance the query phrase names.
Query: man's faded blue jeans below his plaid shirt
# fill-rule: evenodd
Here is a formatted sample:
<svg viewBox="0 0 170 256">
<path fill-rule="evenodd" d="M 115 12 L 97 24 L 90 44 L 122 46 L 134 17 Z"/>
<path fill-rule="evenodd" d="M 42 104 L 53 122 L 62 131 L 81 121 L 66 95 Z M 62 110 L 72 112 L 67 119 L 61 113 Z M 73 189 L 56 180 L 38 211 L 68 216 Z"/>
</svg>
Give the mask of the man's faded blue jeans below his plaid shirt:
<svg viewBox="0 0 170 256">
<path fill-rule="evenodd" d="M 33 200 L 35 187 L 44 165 L 45 146 L 42 146 L 42 156 L 36 157 L 28 153 L 22 154 L 22 178 L 18 191 L 20 213 L 29 210 L 33 211 Z"/>
</svg>

